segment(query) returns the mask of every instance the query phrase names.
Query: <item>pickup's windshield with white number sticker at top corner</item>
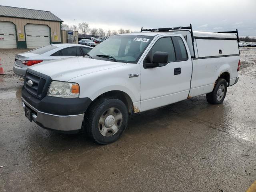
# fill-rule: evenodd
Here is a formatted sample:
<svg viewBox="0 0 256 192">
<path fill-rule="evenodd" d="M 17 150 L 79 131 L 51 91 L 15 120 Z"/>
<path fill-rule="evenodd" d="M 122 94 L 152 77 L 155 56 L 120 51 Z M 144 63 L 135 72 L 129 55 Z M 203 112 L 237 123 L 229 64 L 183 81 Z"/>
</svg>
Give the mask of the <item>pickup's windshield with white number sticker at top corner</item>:
<svg viewBox="0 0 256 192">
<path fill-rule="evenodd" d="M 143 35 L 111 36 L 90 50 L 89 54 L 93 59 L 136 63 L 153 38 Z"/>
</svg>

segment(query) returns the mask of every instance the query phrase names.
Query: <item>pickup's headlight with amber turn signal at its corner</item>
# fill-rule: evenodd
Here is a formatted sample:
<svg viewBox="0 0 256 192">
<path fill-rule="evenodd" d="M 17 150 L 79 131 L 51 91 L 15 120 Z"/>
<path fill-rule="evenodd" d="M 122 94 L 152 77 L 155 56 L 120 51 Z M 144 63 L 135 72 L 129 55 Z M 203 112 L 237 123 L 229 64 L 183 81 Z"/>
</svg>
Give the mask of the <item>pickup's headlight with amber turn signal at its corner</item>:
<svg viewBox="0 0 256 192">
<path fill-rule="evenodd" d="M 47 95 L 53 97 L 76 98 L 79 97 L 79 85 L 77 83 L 52 81 Z"/>
</svg>

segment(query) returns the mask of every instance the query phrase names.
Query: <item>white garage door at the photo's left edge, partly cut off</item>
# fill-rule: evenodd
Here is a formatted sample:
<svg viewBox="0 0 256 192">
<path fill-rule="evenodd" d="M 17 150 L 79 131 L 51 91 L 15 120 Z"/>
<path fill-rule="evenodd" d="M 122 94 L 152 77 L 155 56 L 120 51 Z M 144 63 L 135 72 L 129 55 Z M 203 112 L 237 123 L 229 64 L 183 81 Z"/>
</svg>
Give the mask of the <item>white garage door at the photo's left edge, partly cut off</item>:
<svg viewBox="0 0 256 192">
<path fill-rule="evenodd" d="M 0 48 L 17 48 L 15 26 L 11 22 L 0 21 Z"/>
</svg>

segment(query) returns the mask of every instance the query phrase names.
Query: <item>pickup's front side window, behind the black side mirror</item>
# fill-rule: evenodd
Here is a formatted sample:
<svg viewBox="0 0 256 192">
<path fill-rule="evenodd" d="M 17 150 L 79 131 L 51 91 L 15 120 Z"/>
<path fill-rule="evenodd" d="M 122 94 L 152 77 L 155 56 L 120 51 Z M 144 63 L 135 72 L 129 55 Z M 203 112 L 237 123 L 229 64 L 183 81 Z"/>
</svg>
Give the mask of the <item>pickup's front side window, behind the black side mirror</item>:
<svg viewBox="0 0 256 192">
<path fill-rule="evenodd" d="M 153 60 L 154 53 L 157 51 L 167 52 L 168 53 L 168 62 L 175 61 L 175 51 L 172 44 L 172 39 L 170 37 L 160 38 L 152 47 L 149 54 L 151 54 L 151 62 Z"/>
</svg>

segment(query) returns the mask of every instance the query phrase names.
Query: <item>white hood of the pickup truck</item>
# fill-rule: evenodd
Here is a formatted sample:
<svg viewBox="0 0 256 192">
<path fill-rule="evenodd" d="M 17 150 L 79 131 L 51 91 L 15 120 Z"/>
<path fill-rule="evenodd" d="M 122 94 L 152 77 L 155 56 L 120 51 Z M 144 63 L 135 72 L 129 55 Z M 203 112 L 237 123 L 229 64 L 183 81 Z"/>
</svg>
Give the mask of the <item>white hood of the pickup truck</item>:
<svg viewBox="0 0 256 192">
<path fill-rule="evenodd" d="M 64 58 L 30 66 L 31 70 L 48 75 L 52 80 L 69 81 L 72 78 L 115 68 L 125 63 L 96 60 L 82 57 Z"/>
</svg>

